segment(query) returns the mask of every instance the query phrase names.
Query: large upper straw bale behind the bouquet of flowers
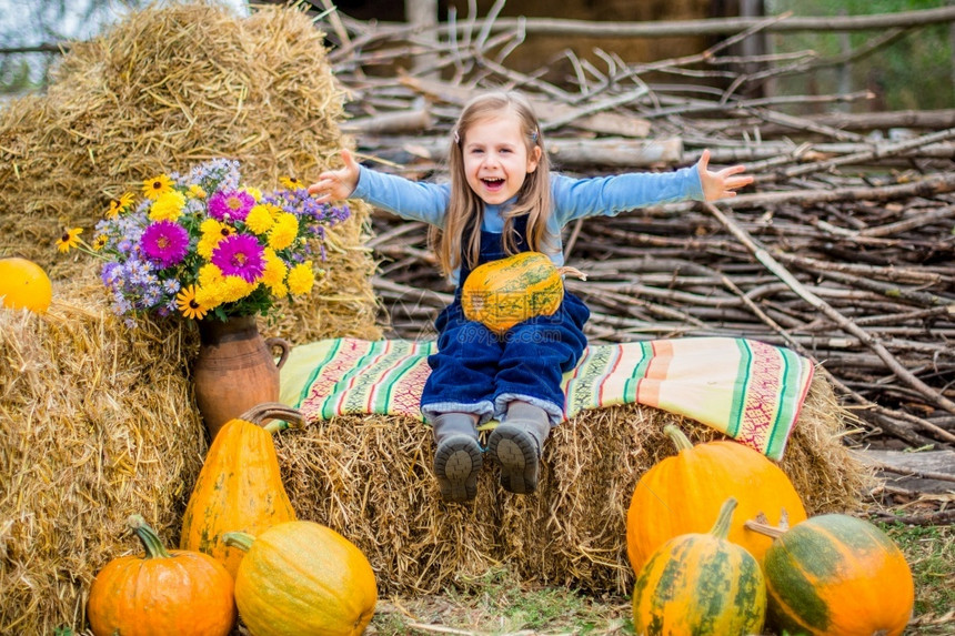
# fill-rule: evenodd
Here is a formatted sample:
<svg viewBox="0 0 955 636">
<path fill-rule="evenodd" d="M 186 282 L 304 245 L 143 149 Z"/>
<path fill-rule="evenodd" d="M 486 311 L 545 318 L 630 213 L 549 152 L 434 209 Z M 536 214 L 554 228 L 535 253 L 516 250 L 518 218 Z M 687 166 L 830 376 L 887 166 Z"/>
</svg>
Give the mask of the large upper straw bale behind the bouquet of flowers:
<svg viewBox="0 0 955 636">
<path fill-rule="evenodd" d="M 351 143 L 339 130 L 346 95 L 323 38 L 294 8 L 240 17 L 190 2 L 131 13 L 77 43 L 46 95 L 0 111 L 0 256 L 28 258 L 53 277 L 93 269 L 91 259 L 58 258 L 64 226 L 91 228 L 142 180 L 214 157 L 241 161 L 245 181 L 262 189 L 336 162 Z M 351 208 L 332 233 L 328 279 L 284 306 L 279 335 L 380 337 L 363 248 L 370 208 Z"/>
</svg>

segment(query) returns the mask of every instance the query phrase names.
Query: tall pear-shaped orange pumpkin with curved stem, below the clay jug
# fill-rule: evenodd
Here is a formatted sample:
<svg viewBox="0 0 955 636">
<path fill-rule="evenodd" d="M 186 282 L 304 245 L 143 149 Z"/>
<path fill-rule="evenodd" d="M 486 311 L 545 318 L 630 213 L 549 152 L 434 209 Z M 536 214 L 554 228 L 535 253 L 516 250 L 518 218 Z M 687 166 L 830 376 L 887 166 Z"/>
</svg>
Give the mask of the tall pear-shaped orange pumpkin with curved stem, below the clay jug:
<svg viewBox="0 0 955 636">
<path fill-rule="evenodd" d="M 230 420 L 212 441 L 182 517 L 179 547 L 205 553 L 222 562 L 232 576 L 244 553 L 222 542 L 227 532 L 258 534 L 269 526 L 294 521 L 295 511 L 282 485 L 272 433 L 284 421 L 299 425 L 301 412 L 267 402 Z"/>
</svg>

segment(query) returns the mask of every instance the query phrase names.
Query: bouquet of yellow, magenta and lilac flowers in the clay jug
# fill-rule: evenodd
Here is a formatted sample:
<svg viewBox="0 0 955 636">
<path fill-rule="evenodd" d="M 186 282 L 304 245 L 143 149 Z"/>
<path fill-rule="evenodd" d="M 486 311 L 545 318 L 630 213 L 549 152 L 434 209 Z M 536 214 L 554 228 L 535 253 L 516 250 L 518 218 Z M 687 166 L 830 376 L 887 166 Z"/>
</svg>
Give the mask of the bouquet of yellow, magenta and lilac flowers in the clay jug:
<svg viewBox="0 0 955 636">
<path fill-rule="evenodd" d="M 295 179 L 263 194 L 242 184 L 239 162 L 214 159 L 188 174 L 160 174 L 110 203 L 92 244 L 67 230 L 61 252 L 101 256 L 113 311 L 219 320 L 268 315 L 279 299 L 302 295 L 325 259 L 325 230 L 348 206 L 316 203 Z M 318 271 L 323 274 L 323 270 Z"/>
</svg>

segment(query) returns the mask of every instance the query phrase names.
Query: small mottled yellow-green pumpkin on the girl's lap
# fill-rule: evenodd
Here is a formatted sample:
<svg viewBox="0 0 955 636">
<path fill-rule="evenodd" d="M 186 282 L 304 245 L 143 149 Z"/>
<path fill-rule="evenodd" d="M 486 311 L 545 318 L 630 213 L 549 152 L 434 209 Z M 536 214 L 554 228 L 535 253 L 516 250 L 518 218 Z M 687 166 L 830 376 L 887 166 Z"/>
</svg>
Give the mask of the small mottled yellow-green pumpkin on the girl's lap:
<svg viewBox="0 0 955 636">
<path fill-rule="evenodd" d="M 521 252 L 479 265 L 461 286 L 464 317 L 503 335 L 527 319 L 553 315 L 564 300 L 565 274 L 585 277 L 573 267 L 555 266 L 541 252 Z"/>
</svg>

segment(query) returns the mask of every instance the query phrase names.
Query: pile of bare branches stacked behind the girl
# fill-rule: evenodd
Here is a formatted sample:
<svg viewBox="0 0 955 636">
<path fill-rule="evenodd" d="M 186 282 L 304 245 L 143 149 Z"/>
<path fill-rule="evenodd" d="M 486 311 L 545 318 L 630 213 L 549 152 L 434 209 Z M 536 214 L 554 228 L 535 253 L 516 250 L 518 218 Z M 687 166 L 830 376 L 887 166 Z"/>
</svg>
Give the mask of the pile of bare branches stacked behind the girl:
<svg viewBox="0 0 955 636">
<path fill-rule="evenodd" d="M 704 148 L 711 165 L 744 162 L 756 181 L 736 198 L 566 229 L 567 263 L 589 276 L 567 285 L 593 311 L 591 341 L 728 335 L 790 346 L 820 364 L 866 435 L 953 446 L 955 111 L 840 112 L 865 92 L 752 97 L 771 78 L 832 62 L 812 51 L 731 54 L 784 17 L 697 55 L 633 64 L 566 51 L 521 72 L 507 58 L 524 23 L 502 27 L 497 8 L 431 30 L 323 16 L 336 41 L 330 60 L 353 97 L 346 131 L 369 165 L 446 179 L 454 120 L 487 88 L 517 89 L 535 103 L 565 173 L 672 170 Z M 547 79 L 555 73 L 560 81 Z M 831 112 L 794 114 L 793 104 L 810 102 Z M 373 219 L 388 333 L 432 336 L 452 290 L 426 228 L 383 212 Z"/>
</svg>

